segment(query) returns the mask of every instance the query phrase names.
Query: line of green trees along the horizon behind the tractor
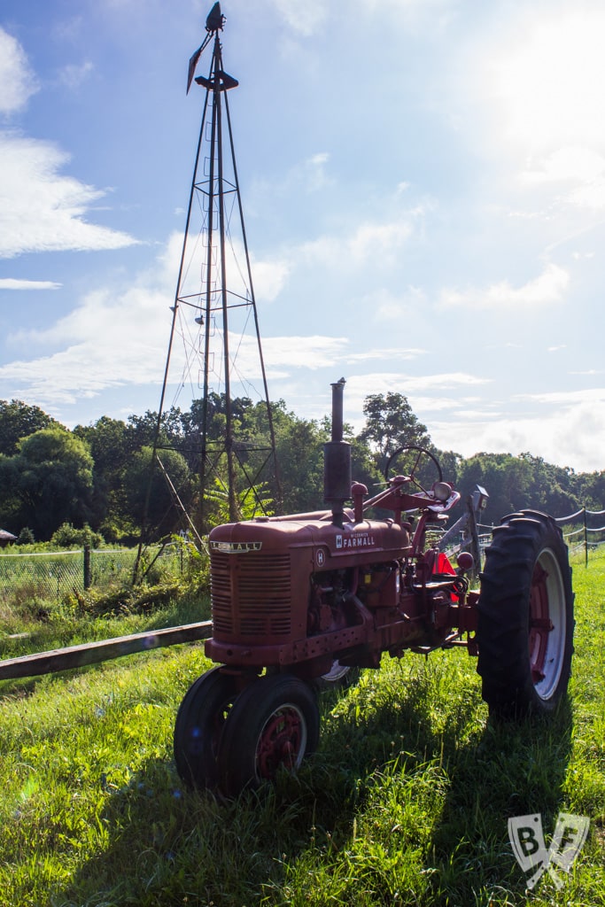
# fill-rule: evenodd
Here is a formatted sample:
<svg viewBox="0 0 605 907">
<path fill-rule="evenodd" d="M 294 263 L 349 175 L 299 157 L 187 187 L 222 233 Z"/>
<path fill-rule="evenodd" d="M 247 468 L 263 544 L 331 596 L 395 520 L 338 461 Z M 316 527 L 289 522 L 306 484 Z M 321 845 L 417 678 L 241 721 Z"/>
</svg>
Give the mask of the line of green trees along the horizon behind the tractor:
<svg viewBox="0 0 605 907">
<path fill-rule="evenodd" d="M 206 405 L 194 400 L 187 411 L 172 407 L 161 416 L 148 411 L 126 421 L 102 416 L 69 430 L 38 406 L 0 401 L 0 527 L 26 541 L 48 541 L 64 525 L 90 527 L 105 541 L 130 544 L 141 538 L 145 526 L 156 536 L 186 529 L 185 514 L 194 519 L 202 499 L 202 532 L 226 522 L 225 404 L 224 395 L 212 394 Z M 268 406 L 248 397 L 231 401 L 243 518 L 324 506 L 323 447 L 330 440 L 329 419 L 299 418 L 283 400 L 269 406 L 278 472 L 266 453 Z M 345 438 L 352 449 L 353 479 L 365 483 L 370 494 L 385 487 L 389 457 L 399 447 L 414 444 L 434 454 L 445 481 L 454 483 L 463 502 L 476 484 L 487 490 L 485 523 L 497 523 L 504 514 L 524 508 L 555 517 L 582 506 L 603 509 L 605 470 L 576 473 L 532 453 L 464 458 L 439 450 L 407 398 L 395 392 L 368 395 L 364 414 L 361 431 L 345 425 Z M 203 419 L 210 468 L 203 471 L 201 489 Z M 426 468 L 430 472 L 430 462 Z M 250 476 L 258 477 L 253 494 Z"/>
</svg>

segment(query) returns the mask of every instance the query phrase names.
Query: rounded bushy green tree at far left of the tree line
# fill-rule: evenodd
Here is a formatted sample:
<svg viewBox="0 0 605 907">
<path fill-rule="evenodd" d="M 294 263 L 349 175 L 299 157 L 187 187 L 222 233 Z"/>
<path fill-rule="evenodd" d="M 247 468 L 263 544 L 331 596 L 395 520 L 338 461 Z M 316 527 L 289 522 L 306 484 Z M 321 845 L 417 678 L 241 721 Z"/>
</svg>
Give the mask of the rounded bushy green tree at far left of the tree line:
<svg viewBox="0 0 605 907">
<path fill-rule="evenodd" d="M 93 457 L 63 428 L 25 437 L 12 457 L 0 457 L 0 487 L 9 488 L 11 522 L 48 540 L 63 522 L 83 526 L 90 514 Z"/>
</svg>

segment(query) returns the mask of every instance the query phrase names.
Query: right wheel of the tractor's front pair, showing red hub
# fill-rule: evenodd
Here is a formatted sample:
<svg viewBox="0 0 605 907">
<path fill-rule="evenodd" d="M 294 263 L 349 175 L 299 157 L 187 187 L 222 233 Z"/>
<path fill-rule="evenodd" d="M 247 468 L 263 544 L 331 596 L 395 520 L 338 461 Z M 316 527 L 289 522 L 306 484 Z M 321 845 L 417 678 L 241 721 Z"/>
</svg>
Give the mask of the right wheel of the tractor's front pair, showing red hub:
<svg viewBox="0 0 605 907">
<path fill-rule="evenodd" d="M 312 688 L 291 674 L 255 680 L 237 698 L 220 738 L 220 788 L 237 796 L 273 781 L 279 769 L 296 772 L 319 739 Z"/>
</svg>

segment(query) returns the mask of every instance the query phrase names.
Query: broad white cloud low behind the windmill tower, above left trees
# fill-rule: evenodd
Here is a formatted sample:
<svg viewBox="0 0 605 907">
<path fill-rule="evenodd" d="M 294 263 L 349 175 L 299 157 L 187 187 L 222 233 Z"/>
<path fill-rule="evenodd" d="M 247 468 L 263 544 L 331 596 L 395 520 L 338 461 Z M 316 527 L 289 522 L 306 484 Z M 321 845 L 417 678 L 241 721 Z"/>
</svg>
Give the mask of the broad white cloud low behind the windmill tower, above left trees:
<svg viewBox="0 0 605 907">
<path fill-rule="evenodd" d="M 28 358 L 22 356 L 0 366 L 0 396 L 16 395 L 44 407 L 73 404 L 112 387 L 160 385 L 181 243 L 182 234 L 173 233 L 153 267 L 129 277 L 126 288 L 97 288 L 54 326 L 15 331 L 8 336 L 11 346 L 21 348 Z M 237 311 L 232 310 L 232 316 Z M 254 327 L 246 324 L 245 317 L 242 324 L 248 333 L 233 344 L 230 356 L 236 374 L 244 375 L 247 381 L 259 381 L 257 338 L 249 333 Z M 237 332 L 238 325 L 232 323 L 231 328 Z M 195 325 L 190 307 L 181 306 L 172 347 L 171 385 L 196 385 L 201 367 L 200 330 L 203 328 Z M 274 378 L 288 377 L 299 369 L 316 371 L 343 356 L 348 343 L 342 336 L 262 338 L 268 374 Z M 221 344 L 221 331 L 217 329 L 211 339 L 217 371 L 222 367 Z M 48 350 L 54 352 L 49 354 Z M 37 351 L 43 355 L 36 357 Z M 3 385 L 10 390 L 2 391 Z"/>
</svg>

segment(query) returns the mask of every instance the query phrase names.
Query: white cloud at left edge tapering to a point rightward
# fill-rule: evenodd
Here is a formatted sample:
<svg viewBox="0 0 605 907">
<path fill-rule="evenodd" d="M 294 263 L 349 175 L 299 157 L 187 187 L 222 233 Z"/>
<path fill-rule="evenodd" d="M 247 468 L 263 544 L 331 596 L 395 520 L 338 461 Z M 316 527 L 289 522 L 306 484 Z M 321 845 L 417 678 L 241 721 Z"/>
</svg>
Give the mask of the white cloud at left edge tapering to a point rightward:
<svg viewBox="0 0 605 907">
<path fill-rule="evenodd" d="M 0 258 L 24 252 L 120 249 L 134 242 L 84 219 L 102 190 L 60 171 L 67 154 L 47 141 L 0 133 Z"/>
</svg>

